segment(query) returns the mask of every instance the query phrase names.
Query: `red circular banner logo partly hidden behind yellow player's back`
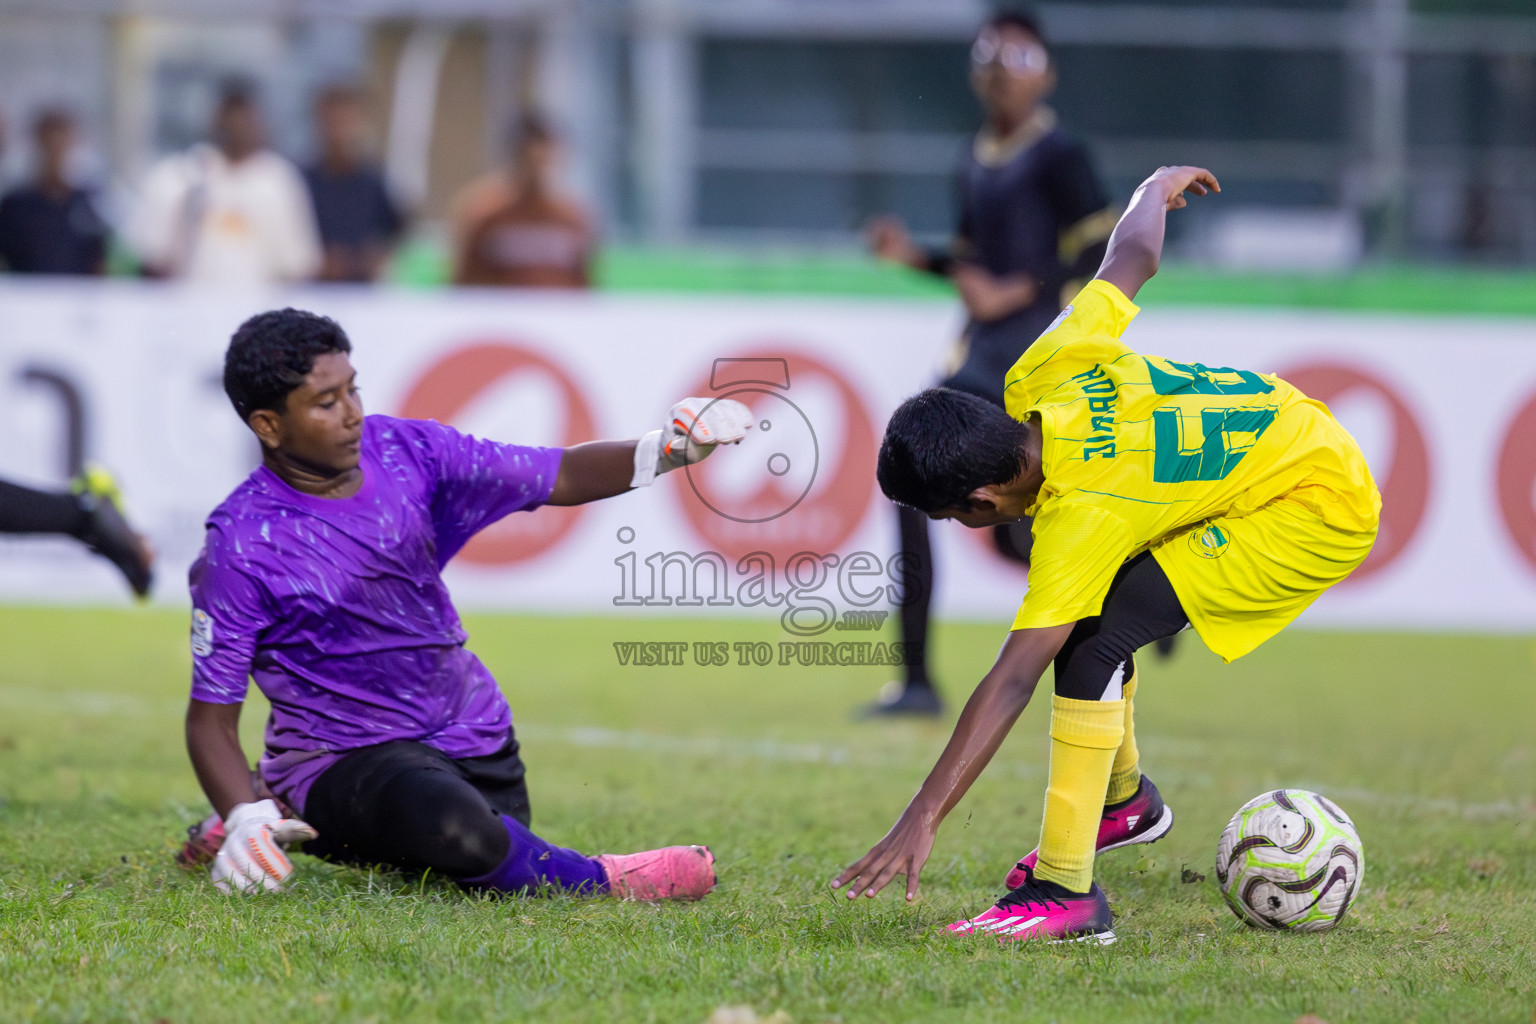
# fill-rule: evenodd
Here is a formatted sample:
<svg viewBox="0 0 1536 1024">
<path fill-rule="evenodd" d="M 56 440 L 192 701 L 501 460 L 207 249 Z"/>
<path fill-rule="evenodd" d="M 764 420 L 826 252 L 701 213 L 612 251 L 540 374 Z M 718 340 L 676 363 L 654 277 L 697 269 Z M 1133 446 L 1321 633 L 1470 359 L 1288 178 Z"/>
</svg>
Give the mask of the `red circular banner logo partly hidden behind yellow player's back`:
<svg viewBox="0 0 1536 1024">
<path fill-rule="evenodd" d="M 1376 481 L 1381 488 L 1381 533 L 1376 536 L 1376 547 L 1370 550 L 1370 557 L 1349 577 L 1350 580 L 1362 580 L 1392 565 L 1424 522 L 1430 497 L 1430 454 L 1428 445 L 1424 442 L 1424 431 L 1419 430 L 1418 418 L 1402 401 L 1402 396 L 1366 370 L 1332 362 L 1312 362 L 1279 376 L 1304 391 L 1307 398 L 1315 398 L 1327 405 L 1350 395 L 1370 395 L 1392 416 L 1392 462 L 1384 474 L 1378 474 Z"/>
</svg>

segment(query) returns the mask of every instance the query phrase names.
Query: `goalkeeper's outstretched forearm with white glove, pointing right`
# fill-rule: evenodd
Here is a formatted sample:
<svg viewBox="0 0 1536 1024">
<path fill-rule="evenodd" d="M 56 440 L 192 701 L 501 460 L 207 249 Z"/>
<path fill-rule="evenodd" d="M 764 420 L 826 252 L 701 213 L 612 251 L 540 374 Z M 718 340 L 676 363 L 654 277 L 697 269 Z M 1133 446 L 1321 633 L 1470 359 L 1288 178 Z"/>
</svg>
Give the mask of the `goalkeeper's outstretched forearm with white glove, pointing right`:
<svg viewBox="0 0 1536 1024">
<path fill-rule="evenodd" d="M 702 462 L 717 445 L 740 444 L 753 411 L 728 398 L 685 398 L 667 425 L 637 441 L 591 441 L 565 448 L 547 505 L 585 505 Z"/>
</svg>

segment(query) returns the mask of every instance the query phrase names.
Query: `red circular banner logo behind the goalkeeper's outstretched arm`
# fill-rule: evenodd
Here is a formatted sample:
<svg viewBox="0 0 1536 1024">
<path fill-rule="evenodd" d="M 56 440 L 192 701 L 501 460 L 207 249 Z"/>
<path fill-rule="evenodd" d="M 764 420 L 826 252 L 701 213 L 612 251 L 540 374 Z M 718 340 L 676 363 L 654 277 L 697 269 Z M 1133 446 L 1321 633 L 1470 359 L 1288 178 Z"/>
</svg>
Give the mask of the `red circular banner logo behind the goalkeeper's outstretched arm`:
<svg viewBox="0 0 1536 1024">
<path fill-rule="evenodd" d="M 593 438 L 591 410 L 570 375 L 544 355 L 504 341 L 472 344 L 445 355 L 407 391 L 399 415 L 453 425 L 455 416 L 470 402 L 518 376 L 538 381 L 564 410 L 564 428 L 551 444 L 571 445 Z M 559 543 L 579 517 L 579 507 L 507 516 L 476 534 L 458 557 L 475 565 L 522 562 Z"/>
</svg>

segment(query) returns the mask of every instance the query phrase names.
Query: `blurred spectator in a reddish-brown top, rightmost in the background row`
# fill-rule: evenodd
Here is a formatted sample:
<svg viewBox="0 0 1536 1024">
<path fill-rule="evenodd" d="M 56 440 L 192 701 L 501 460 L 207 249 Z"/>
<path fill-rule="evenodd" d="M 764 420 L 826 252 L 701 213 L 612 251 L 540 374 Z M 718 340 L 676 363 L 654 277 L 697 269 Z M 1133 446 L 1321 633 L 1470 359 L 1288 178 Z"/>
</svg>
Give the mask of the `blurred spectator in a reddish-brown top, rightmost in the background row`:
<svg viewBox="0 0 1536 1024">
<path fill-rule="evenodd" d="M 593 229 L 587 210 L 556 183 L 561 143 L 538 115 L 522 118 L 511 166 L 482 180 L 455 206 L 455 284 L 584 289 Z"/>
</svg>

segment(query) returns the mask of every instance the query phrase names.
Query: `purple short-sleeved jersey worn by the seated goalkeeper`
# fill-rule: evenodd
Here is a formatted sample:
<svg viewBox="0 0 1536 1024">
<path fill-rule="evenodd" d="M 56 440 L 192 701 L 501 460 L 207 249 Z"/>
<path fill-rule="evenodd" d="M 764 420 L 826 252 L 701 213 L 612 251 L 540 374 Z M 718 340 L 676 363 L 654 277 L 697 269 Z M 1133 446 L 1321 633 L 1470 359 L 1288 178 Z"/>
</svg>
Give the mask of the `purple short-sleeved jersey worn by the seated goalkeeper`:
<svg viewBox="0 0 1536 1024">
<path fill-rule="evenodd" d="M 432 421 L 369 416 L 362 487 L 303 494 L 257 468 L 207 519 L 192 565 L 192 697 L 272 702 L 261 775 L 303 811 L 347 751 L 415 740 L 496 752 L 511 709 L 442 583 L 476 531 L 536 508 L 559 448 L 524 448 Z"/>
</svg>

